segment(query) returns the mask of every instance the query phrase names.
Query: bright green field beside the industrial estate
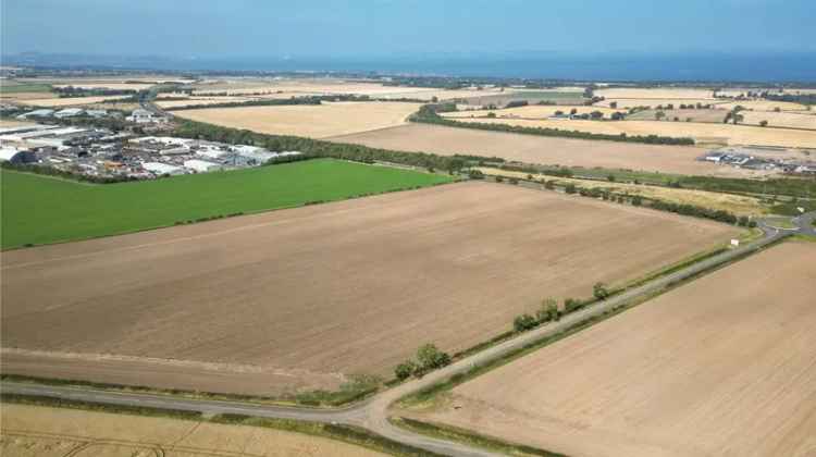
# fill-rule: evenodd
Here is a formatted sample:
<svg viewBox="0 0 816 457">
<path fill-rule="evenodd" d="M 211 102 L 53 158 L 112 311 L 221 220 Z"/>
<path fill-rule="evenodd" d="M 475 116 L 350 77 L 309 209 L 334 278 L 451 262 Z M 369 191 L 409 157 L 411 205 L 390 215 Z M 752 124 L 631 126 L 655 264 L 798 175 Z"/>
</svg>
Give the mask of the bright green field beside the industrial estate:
<svg viewBox="0 0 816 457">
<path fill-rule="evenodd" d="M 0 178 L 3 249 L 450 181 L 331 159 L 122 184 L 82 184 L 7 170 Z"/>
</svg>

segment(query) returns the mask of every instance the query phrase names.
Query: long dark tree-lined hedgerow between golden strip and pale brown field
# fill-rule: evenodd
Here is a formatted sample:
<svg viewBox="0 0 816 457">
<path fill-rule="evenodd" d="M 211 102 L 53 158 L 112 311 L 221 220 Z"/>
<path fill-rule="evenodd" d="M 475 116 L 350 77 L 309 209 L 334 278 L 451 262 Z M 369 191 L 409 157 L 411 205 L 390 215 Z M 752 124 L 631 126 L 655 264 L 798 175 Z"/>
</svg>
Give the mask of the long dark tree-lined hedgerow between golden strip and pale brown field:
<svg viewBox="0 0 816 457">
<path fill-rule="evenodd" d="M 440 111 L 438 108 L 436 107 L 438 106 L 437 104 L 423 106 L 422 108 L 420 108 L 420 110 L 416 114 L 410 116 L 410 121 L 422 122 L 422 123 L 428 123 L 428 124 L 445 125 L 445 126 L 450 126 L 450 127 L 518 133 L 518 134 L 524 134 L 524 135 L 557 136 L 557 137 L 580 138 L 580 139 L 605 139 L 609 141 L 645 143 L 650 145 L 694 145 L 693 138 L 676 138 L 676 137 L 658 136 L 658 135 L 630 136 L 625 133 L 620 135 L 607 135 L 607 134 L 593 134 L 593 133 L 579 132 L 579 131 L 565 131 L 560 128 L 549 128 L 549 127 L 528 127 L 528 126 L 508 125 L 508 124 L 500 124 L 500 123 L 478 123 L 478 122 L 453 121 L 453 120 L 437 115 L 437 113 L 444 112 L 444 111 Z M 456 106 L 454 104 L 454 109 L 455 108 Z"/>
</svg>

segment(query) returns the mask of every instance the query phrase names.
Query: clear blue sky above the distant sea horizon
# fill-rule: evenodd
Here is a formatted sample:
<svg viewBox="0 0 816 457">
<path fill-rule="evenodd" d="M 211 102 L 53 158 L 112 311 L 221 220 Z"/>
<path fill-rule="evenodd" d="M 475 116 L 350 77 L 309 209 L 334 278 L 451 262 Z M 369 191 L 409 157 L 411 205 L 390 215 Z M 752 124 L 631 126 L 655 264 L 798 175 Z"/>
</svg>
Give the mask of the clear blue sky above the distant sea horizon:
<svg viewBox="0 0 816 457">
<path fill-rule="evenodd" d="M 816 51 L 816 0 L 1 0 L 3 53 Z"/>
</svg>

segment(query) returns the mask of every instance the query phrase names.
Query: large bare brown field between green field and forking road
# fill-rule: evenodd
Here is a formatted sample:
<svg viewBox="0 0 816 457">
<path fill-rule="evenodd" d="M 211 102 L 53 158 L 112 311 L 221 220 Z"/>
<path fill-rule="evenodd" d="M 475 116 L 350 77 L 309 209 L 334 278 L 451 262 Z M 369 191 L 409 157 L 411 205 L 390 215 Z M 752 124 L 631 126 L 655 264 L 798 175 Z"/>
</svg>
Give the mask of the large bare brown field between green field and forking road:
<svg viewBox="0 0 816 457">
<path fill-rule="evenodd" d="M 2 370 L 249 394 L 336 387 L 738 233 L 475 182 L 14 250 Z"/>
</svg>

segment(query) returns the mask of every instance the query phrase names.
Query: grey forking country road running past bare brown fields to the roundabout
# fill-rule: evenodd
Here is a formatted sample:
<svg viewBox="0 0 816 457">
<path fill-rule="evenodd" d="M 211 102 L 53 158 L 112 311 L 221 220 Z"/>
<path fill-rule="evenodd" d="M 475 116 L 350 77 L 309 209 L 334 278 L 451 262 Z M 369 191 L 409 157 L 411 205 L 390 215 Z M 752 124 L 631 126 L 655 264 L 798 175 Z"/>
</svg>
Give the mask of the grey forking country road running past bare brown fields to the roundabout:
<svg viewBox="0 0 816 457">
<path fill-rule="evenodd" d="M 3 382 L 2 384 L 0 384 L 0 390 L 4 393 L 12 394 L 41 395 L 84 402 L 107 403 L 113 405 L 134 405 L 153 408 L 181 409 L 189 411 L 200 411 L 205 415 L 239 413 L 267 418 L 343 423 L 363 427 L 376 434 L 383 435 L 391 440 L 415 447 L 420 447 L 437 454 L 467 457 L 492 456 L 494 454 L 484 449 L 474 448 L 461 443 L 447 442 L 424 436 L 392 425 L 387 420 L 387 408 L 391 404 L 405 395 L 431 386 L 440 381 L 444 381 L 454 374 L 466 372 L 474 366 L 502 358 L 508 353 L 522 348 L 527 344 L 557 334 L 576 323 L 595 316 L 603 314 L 604 312 L 619 305 L 623 305 L 634 298 L 658 292 L 673 283 L 689 279 L 708 269 L 725 264 L 731 260 L 738 259 L 743 255 L 747 255 L 757 249 L 761 249 L 788 235 L 792 235 L 794 233 L 816 235 L 816 230 L 814 230 L 812 225 L 812 221 L 815 219 L 816 211 L 807 214 L 802 214 L 799 218 L 793 219 L 793 222 L 798 225 L 798 228 L 791 230 L 771 227 L 766 225 L 763 221 L 759 221 L 758 226 L 765 234 L 765 236 L 759 240 L 705 259 L 685 269 L 658 277 L 644 285 L 634 287 L 622 294 L 610 297 L 607 300 L 599 301 L 578 312 L 567 314 L 558 322 L 548 323 L 532 331 L 522 333 L 517 337 L 484 349 L 470 357 L 460 359 L 441 370 L 431 372 L 422 379 L 408 381 L 347 408 L 306 409 L 282 406 L 264 406 L 242 402 L 193 399 L 168 395 L 131 394 L 84 387 L 49 386 L 33 383 L 14 382 Z"/>
</svg>

